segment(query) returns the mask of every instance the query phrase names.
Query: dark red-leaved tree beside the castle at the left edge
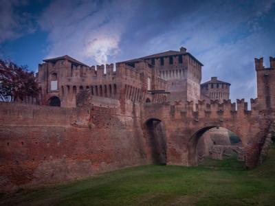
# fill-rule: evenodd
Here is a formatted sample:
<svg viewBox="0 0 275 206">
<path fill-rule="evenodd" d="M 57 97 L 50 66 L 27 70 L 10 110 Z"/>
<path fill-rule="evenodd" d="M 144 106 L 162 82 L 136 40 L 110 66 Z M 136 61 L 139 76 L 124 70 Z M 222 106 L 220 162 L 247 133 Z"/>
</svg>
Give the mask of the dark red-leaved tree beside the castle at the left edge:
<svg viewBox="0 0 275 206">
<path fill-rule="evenodd" d="M 0 59 L 0 101 L 15 102 L 38 97 L 39 86 L 34 72 L 27 68 Z"/>
</svg>

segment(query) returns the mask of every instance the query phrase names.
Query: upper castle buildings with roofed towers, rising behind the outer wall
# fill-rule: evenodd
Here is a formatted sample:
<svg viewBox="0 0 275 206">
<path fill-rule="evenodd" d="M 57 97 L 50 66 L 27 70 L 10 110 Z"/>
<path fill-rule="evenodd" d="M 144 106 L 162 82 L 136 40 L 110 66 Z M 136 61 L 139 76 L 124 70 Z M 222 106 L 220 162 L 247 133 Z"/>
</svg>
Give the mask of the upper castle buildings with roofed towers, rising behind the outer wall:
<svg viewBox="0 0 275 206">
<path fill-rule="evenodd" d="M 133 60 L 88 67 L 70 56 L 44 60 L 39 65 L 41 104 L 75 107 L 76 94 L 131 102 L 228 100 L 230 84 L 212 78 L 201 84 L 197 58 L 181 47 Z"/>
</svg>

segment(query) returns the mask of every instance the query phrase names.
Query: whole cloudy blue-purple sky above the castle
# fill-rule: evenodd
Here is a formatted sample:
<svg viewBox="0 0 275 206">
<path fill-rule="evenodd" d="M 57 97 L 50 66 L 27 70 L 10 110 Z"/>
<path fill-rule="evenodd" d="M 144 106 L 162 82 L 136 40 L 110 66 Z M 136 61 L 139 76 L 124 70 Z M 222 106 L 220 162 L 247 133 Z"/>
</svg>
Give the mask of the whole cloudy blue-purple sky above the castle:
<svg viewBox="0 0 275 206">
<path fill-rule="evenodd" d="M 249 102 L 254 58 L 275 56 L 275 0 L 0 0 L 0 58 L 33 71 L 65 54 L 102 65 L 181 46 L 203 63 L 201 82 L 217 76 Z"/>
</svg>

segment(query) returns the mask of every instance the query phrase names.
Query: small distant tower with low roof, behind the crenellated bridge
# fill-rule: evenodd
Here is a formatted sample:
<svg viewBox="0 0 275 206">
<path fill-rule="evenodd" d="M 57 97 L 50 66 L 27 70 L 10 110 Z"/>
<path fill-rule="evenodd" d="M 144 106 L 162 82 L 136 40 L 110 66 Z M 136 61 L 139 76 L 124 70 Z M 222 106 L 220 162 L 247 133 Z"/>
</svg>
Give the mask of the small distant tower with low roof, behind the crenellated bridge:
<svg viewBox="0 0 275 206">
<path fill-rule="evenodd" d="M 212 77 L 210 81 L 201 84 L 201 100 L 229 100 L 230 83 L 218 80 Z"/>
</svg>

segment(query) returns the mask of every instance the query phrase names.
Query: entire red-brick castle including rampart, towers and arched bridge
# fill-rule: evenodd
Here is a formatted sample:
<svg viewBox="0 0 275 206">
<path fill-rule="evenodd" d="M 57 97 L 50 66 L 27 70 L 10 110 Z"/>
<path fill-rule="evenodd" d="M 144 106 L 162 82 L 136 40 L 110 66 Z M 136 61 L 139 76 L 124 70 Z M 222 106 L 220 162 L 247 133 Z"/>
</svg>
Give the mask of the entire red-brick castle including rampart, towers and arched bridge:
<svg viewBox="0 0 275 206">
<path fill-rule="evenodd" d="M 201 66 L 184 48 L 115 69 L 69 56 L 44 60 L 40 105 L 0 102 L 1 190 L 134 165 L 197 165 L 199 139 L 219 127 L 241 139 L 241 158 L 254 168 L 275 120 L 274 58 L 270 68 L 255 59 L 258 97 L 250 111 L 245 100 L 228 100 L 229 83 L 201 85 Z"/>
</svg>

